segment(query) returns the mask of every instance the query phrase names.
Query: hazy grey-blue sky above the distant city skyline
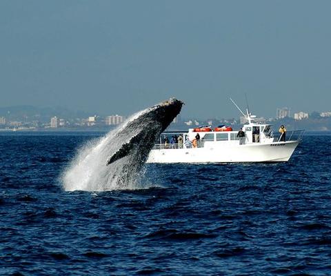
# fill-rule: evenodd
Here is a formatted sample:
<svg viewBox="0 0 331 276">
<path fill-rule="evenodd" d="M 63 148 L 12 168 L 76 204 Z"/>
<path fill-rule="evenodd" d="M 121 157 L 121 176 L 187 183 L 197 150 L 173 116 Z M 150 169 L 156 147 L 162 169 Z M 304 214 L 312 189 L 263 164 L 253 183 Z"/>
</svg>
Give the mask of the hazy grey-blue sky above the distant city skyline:
<svg viewBox="0 0 331 276">
<path fill-rule="evenodd" d="M 331 110 L 331 1 L 0 1 L 0 106 Z"/>
</svg>

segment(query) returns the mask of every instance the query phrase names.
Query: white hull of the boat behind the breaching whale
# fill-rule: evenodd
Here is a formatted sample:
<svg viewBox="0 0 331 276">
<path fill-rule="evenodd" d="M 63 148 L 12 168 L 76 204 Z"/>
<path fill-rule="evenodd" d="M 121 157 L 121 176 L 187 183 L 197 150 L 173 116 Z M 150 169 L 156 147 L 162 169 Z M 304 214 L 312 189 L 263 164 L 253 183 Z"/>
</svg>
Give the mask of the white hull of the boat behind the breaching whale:
<svg viewBox="0 0 331 276">
<path fill-rule="evenodd" d="M 147 163 L 231 163 L 288 161 L 299 141 L 270 144 L 205 144 L 203 148 L 151 150 Z"/>
</svg>

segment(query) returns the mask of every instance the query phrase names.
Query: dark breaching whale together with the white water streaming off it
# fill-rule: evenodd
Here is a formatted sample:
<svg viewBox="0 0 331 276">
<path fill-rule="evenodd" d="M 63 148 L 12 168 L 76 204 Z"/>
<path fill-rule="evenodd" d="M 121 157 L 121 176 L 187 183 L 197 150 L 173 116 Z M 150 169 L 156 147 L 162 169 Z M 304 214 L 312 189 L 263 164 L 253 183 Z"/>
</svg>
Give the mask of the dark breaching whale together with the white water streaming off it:
<svg viewBox="0 0 331 276">
<path fill-rule="evenodd" d="M 132 188 L 159 135 L 181 111 L 183 102 L 168 101 L 146 108 L 119 128 L 81 149 L 63 174 L 66 190 Z"/>
</svg>

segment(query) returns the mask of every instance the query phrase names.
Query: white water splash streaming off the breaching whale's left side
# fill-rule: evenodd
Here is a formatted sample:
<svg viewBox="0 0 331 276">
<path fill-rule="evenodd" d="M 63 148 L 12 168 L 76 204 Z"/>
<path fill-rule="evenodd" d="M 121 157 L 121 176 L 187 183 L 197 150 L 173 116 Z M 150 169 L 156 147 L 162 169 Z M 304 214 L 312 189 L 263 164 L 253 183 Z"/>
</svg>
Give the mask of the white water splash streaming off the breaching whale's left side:
<svg viewBox="0 0 331 276">
<path fill-rule="evenodd" d="M 149 109 L 132 115 L 121 126 L 111 130 L 105 137 L 88 142 L 78 152 L 72 160 L 70 166 L 63 172 L 62 183 L 65 190 L 87 190 L 87 191 L 104 191 L 117 189 L 134 189 L 141 188 L 139 184 L 139 174 L 132 175 L 126 186 L 119 186 L 118 179 L 121 177 L 119 171 L 123 165 L 128 162 L 126 157 L 117 161 L 117 164 L 106 166 L 109 158 L 109 152 L 114 152 L 120 148 L 123 142 L 114 139 L 117 133 L 121 132 L 128 124 L 137 119 Z M 140 126 L 140 128 L 143 126 Z M 128 137 L 130 139 L 131 137 Z M 134 164 L 132 164 L 134 166 Z"/>
</svg>

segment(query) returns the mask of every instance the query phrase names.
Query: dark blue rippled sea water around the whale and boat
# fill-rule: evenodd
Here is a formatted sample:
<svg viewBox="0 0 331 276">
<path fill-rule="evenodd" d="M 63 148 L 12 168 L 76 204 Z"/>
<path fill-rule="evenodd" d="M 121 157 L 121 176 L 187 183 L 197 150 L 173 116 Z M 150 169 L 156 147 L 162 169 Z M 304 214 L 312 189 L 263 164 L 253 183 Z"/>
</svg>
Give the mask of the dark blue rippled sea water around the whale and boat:
<svg viewBox="0 0 331 276">
<path fill-rule="evenodd" d="M 88 133 L 0 135 L 1 275 L 331 275 L 330 135 L 279 164 L 148 166 L 66 192 Z"/>
</svg>

